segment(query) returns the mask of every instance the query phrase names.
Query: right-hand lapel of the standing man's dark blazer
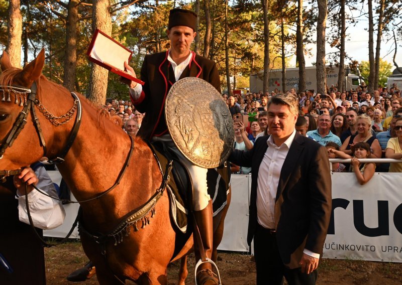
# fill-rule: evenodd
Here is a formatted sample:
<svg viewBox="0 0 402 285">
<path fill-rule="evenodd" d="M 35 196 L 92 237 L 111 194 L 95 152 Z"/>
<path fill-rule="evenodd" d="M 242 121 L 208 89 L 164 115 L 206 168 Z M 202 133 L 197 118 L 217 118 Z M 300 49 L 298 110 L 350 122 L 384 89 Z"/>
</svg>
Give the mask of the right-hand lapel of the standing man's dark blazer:
<svg viewBox="0 0 402 285">
<path fill-rule="evenodd" d="M 286 159 L 283 163 L 282 170 L 280 172 L 278 190 L 276 191 L 276 199 L 278 201 L 280 195 L 283 192 L 283 189 L 286 187 L 287 182 L 289 181 L 290 175 L 293 172 L 294 167 L 296 166 L 296 162 L 302 153 L 303 150 L 303 140 L 302 136 L 296 133 L 292 144 L 290 145 L 289 152 L 287 153 Z"/>
</svg>

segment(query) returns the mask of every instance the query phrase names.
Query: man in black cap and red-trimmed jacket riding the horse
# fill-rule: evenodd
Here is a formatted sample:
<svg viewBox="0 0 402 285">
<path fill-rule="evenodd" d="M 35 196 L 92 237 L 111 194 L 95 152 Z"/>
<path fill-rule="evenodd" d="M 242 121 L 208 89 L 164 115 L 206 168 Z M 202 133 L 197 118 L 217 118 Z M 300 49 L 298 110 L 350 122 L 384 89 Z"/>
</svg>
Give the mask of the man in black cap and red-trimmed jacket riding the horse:
<svg viewBox="0 0 402 285">
<path fill-rule="evenodd" d="M 193 210 L 206 257 L 212 257 L 213 220 L 212 201 L 207 192 L 207 169 L 195 166 L 175 147 L 166 126 L 164 116 L 165 98 L 170 87 L 184 77 L 198 77 L 213 85 L 219 92 L 220 79 L 216 64 L 190 51 L 196 33 L 197 15 L 188 10 L 172 9 L 169 14 L 167 36 L 170 49 L 166 52 L 146 55 L 141 68 L 142 86 L 134 81 L 121 78 L 130 88 L 133 105 L 141 113 L 146 113 L 138 135 L 150 140 L 162 140 L 181 158 L 190 172 L 193 183 Z M 135 72 L 127 63 L 125 67 L 133 76 Z M 195 244 L 195 242 L 194 242 Z M 195 250 L 197 260 L 200 253 Z M 197 272 L 198 284 L 218 284 L 211 264 L 204 263 Z"/>
</svg>

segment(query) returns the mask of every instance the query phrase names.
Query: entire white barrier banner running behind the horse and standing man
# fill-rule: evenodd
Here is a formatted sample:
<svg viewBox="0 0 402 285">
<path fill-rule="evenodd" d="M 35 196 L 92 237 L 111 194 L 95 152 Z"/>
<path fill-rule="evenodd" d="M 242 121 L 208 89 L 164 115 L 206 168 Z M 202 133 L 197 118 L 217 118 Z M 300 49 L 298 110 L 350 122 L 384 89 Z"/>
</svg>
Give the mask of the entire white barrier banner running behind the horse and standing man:
<svg viewBox="0 0 402 285">
<path fill-rule="evenodd" d="M 49 172 L 57 184 L 61 176 Z M 232 175 L 232 201 L 218 249 L 249 251 L 248 205 L 251 177 Z M 402 174 L 375 173 L 366 185 L 354 173 L 332 174 L 333 216 L 324 245 L 324 258 L 402 262 Z M 64 205 L 63 225 L 44 231 L 64 237 L 75 219 L 78 204 Z M 72 238 L 79 238 L 77 229 Z M 253 248 L 251 248 L 252 251 Z"/>
</svg>

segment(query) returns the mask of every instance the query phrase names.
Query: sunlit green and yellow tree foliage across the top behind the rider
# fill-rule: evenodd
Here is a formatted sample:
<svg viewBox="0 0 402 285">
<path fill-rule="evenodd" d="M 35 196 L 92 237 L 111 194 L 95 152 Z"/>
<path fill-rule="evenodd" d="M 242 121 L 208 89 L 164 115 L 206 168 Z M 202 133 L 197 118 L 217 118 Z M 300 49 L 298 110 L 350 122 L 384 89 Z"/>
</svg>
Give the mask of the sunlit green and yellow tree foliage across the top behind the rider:
<svg viewBox="0 0 402 285">
<path fill-rule="evenodd" d="M 68 0 L 61 1 L 21 1 L 21 12 L 23 15 L 24 27 L 28 28 L 28 60 L 31 61 L 37 56 L 42 48 L 46 51 L 46 64 L 43 73 L 51 80 L 62 84 L 64 76 L 64 58 L 66 41 L 66 16 Z M 347 0 L 349 14 L 357 0 Z M 400 2 L 400 1 L 399 1 Z M 393 15 L 389 7 L 398 10 L 401 4 L 396 0 L 386 0 L 386 15 Z M 112 37 L 133 51 L 130 65 L 133 66 L 137 75 L 146 54 L 157 51 L 165 51 L 169 48 L 169 40 L 166 36 L 169 10 L 173 7 L 189 8 L 194 10 L 194 2 L 176 0 L 140 0 L 128 9 L 118 10 L 132 1 L 111 0 L 113 11 Z M 212 20 L 212 46 L 209 57 L 218 66 L 221 75 L 222 89 L 226 89 L 226 66 L 225 66 L 225 0 L 214 0 L 210 2 L 210 13 Z M 82 0 L 78 6 L 80 20 L 77 24 L 77 67 L 75 87 L 81 93 L 86 93 L 89 84 L 91 63 L 86 56 L 86 50 L 92 37 L 92 1 Z M 204 51 L 204 35 L 206 32 L 206 20 L 203 10 L 203 3 L 200 5 L 199 13 L 199 53 Z M 328 41 L 334 47 L 339 47 L 339 1 L 329 0 L 328 15 Z M 393 6 L 392 6 L 392 5 Z M 4 49 L 7 44 L 7 0 L 0 0 L 0 48 Z M 295 18 L 296 0 L 273 0 L 269 1 L 269 49 L 270 68 L 280 69 L 281 62 L 281 19 L 284 21 L 285 39 L 285 63 L 291 60 L 295 52 Z M 305 0 L 304 11 L 304 42 L 313 42 L 313 34 L 317 21 L 316 2 Z M 387 10 L 388 9 L 388 10 Z M 354 24 L 355 19 L 347 15 L 347 23 Z M 387 17 L 387 23 L 392 19 Z M 388 25 L 391 27 L 391 25 Z M 385 32 L 387 32 L 387 26 Z M 228 52 L 230 77 L 236 78 L 236 87 L 247 87 L 250 73 L 260 71 L 263 67 L 264 37 L 263 17 L 260 0 L 235 0 L 229 2 L 228 10 Z M 402 28 L 395 27 L 396 37 L 402 35 Z M 23 33 L 23 41 L 26 34 Z M 389 37 L 388 37 L 389 38 Z M 309 53 L 305 50 L 305 53 Z M 337 62 L 339 53 L 327 55 L 330 61 Z M 363 76 L 365 73 L 365 62 L 360 65 Z M 386 81 L 391 65 L 387 62 L 380 63 L 379 84 Z M 105 79 L 106 80 L 106 79 Z M 115 74 L 109 74 L 108 97 L 128 98 L 127 87 L 119 82 Z"/>
</svg>

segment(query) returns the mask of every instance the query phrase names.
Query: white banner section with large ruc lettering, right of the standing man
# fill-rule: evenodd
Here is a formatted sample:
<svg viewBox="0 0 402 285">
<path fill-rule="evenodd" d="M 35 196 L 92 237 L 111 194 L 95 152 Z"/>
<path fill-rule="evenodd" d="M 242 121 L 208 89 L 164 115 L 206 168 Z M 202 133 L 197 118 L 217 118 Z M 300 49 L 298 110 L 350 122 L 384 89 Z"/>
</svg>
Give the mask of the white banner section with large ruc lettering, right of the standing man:
<svg viewBox="0 0 402 285">
<path fill-rule="evenodd" d="M 332 204 L 324 258 L 402 262 L 400 173 L 375 173 L 365 185 L 354 173 L 334 173 Z"/>
</svg>

